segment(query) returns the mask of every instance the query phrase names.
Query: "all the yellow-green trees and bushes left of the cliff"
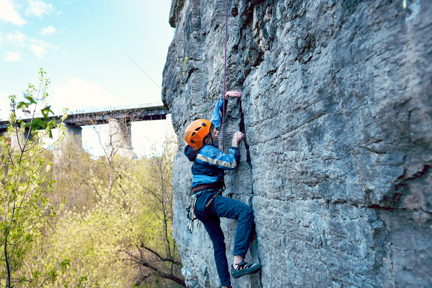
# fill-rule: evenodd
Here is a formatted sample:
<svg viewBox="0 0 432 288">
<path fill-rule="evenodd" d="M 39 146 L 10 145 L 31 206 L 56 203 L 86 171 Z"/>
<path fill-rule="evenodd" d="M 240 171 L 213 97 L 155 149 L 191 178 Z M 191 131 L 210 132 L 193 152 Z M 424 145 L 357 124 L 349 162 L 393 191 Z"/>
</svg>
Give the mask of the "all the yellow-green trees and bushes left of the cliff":
<svg viewBox="0 0 432 288">
<path fill-rule="evenodd" d="M 163 153 L 134 159 L 120 155 L 128 131 L 119 130 L 93 159 L 80 139 L 64 138 L 66 114 L 56 120 L 49 106 L 40 109 L 44 74 L 24 101 L 11 97 L 8 135 L 0 138 L 0 286 L 185 286 L 172 236 L 177 144 L 167 138 Z M 30 120 L 18 120 L 17 109 Z M 44 139 L 54 128 L 61 136 L 48 151 Z"/>
</svg>

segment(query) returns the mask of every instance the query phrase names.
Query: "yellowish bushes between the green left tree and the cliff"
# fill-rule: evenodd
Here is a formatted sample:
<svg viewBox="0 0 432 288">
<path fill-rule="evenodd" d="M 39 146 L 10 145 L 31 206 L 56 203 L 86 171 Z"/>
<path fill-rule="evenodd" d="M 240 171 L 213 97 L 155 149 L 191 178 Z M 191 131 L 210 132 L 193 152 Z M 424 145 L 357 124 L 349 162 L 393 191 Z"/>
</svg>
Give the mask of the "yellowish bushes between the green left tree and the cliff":
<svg viewBox="0 0 432 288">
<path fill-rule="evenodd" d="M 76 141 L 61 148 L 51 198 L 58 202 L 64 196 L 66 209 L 47 226 L 46 240 L 37 248 L 46 251 L 46 262 L 71 259 L 74 269 L 60 280 L 80 274 L 102 287 L 184 286 L 172 237 L 176 143 L 167 140 L 162 154 L 139 160 L 117 155 L 118 147 L 97 159 Z"/>
</svg>

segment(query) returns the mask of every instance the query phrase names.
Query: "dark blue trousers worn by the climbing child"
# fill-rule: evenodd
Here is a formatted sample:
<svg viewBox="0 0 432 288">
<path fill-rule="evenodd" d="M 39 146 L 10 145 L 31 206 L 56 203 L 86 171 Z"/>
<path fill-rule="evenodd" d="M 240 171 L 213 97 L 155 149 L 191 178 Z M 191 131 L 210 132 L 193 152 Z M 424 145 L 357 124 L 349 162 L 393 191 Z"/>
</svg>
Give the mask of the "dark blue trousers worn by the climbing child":
<svg viewBox="0 0 432 288">
<path fill-rule="evenodd" d="M 225 253 L 225 236 L 221 229 L 220 217 L 239 221 L 234 238 L 233 255 L 239 255 L 244 258 L 249 249 L 254 212 L 246 204 L 221 195 L 217 196 L 211 205 L 205 207 L 205 204 L 216 192 L 217 190 L 202 190 L 201 195 L 196 199 L 194 213 L 196 218 L 204 225 L 213 243 L 214 261 L 216 262 L 221 285 L 229 286 L 231 285 L 230 272 Z"/>
</svg>

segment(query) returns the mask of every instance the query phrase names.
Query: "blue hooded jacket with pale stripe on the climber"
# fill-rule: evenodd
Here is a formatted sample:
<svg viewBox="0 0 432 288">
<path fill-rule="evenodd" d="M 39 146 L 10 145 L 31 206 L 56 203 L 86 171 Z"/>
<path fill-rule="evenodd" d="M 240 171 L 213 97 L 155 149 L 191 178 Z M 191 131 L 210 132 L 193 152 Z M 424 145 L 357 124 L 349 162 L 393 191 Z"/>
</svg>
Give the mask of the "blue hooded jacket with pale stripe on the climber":
<svg viewBox="0 0 432 288">
<path fill-rule="evenodd" d="M 220 129 L 223 99 L 220 99 L 211 115 L 210 121 L 216 129 Z M 226 102 L 227 103 L 227 102 Z M 227 106 L 225 105 L 225 108 Z M 226 154 L 219 149 L 218 143 L 204 145 L 200 149 L 192 149 L 189 145 L 184 148 L 184 154 L 192 165 L 192 187 L 224 181 L 224 170 L 235 170 L 239 166 L 240 151 L 238 147 L 231 147 Z"/>
</svg>

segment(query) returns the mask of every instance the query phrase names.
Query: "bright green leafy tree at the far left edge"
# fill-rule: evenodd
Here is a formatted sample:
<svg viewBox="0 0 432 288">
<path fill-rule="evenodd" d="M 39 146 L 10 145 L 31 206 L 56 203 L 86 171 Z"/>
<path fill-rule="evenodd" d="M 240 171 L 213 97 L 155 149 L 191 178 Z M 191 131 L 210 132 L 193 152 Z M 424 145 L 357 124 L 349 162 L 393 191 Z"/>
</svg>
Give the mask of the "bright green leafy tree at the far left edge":
<svg viewBox="0 0 432 288">
<path fill-rule="evenodd" d="M 52 162 L 44 159 L 44 138 L 52 138 L 51 130 L 56 128 L 61 136 L 54 145 L 58 144 L 64 136 L 62 122 L 67 117 L 64 113 L 60 119 L 49 119 L 49 114 L 53 114 L 45 105 L 49 79 L 42 69 L 39 74 L 38 87 L 29 84 L 25 101 L 17 105 L 16 96 L 10 96 L 10 125 L 7 135 L 0 137 L 0 285 L 7 288 L 53 284 L 59 272 L 64 273 L 70 266 L 68 258 L 43 266 L 26 261 L 42 237 L 41 227 L 58 212 L 46 198 L 55 181 L 47 178 Z M 45 106 L 40 109 L 41 105 Z M 18 109 L 29 118 L 27 121 L 17 119 Z M 87 282 L 78 279 L 77 286 Z"/>
</svg>

